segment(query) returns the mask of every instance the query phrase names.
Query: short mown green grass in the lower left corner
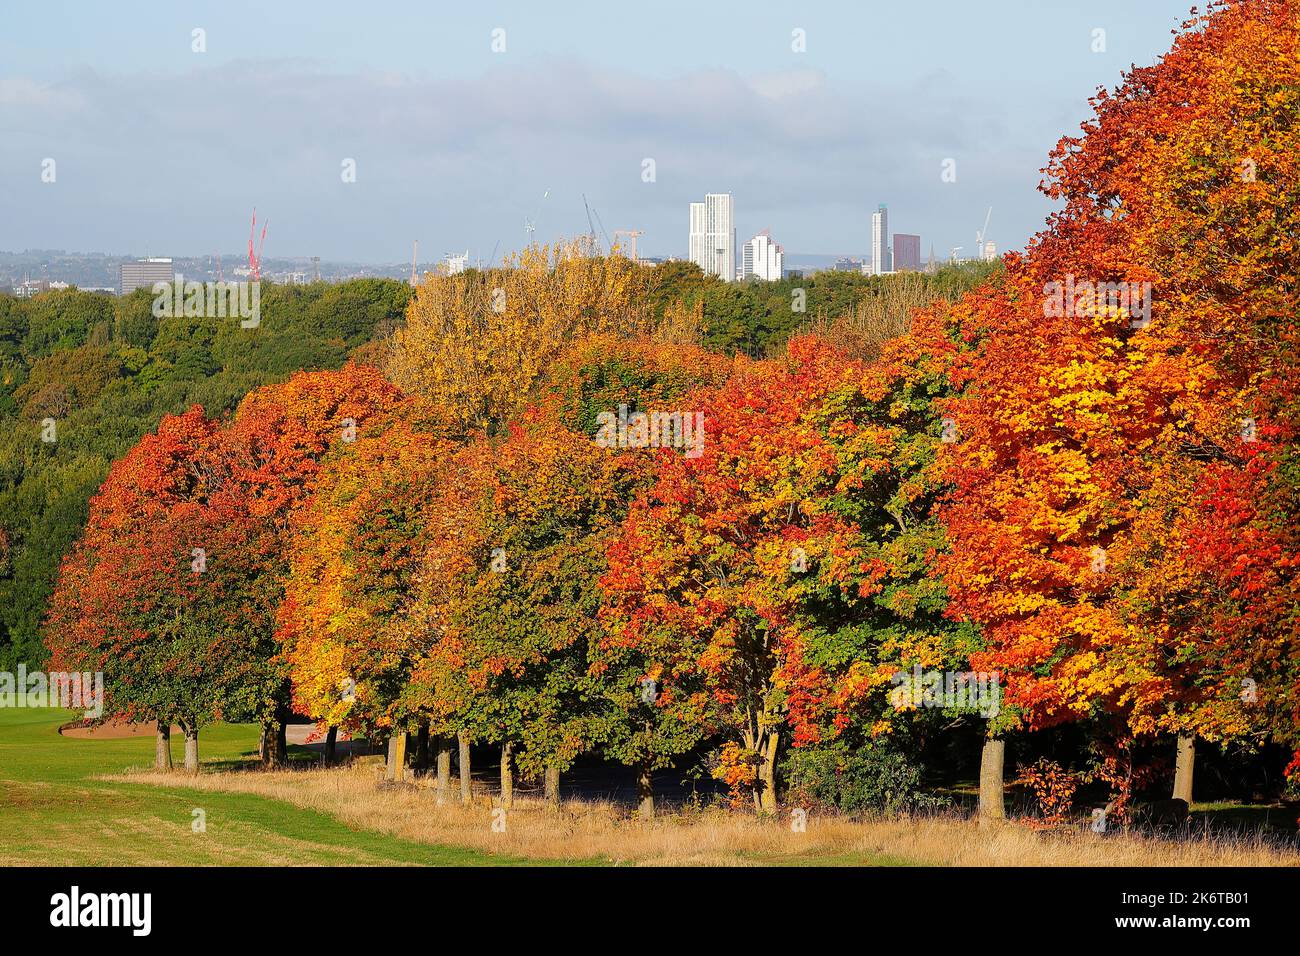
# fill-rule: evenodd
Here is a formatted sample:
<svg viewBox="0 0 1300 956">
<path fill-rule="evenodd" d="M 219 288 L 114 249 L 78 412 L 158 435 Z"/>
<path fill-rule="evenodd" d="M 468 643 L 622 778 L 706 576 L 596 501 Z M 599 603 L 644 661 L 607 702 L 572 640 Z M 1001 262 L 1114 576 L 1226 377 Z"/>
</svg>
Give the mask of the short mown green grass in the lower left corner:
<svg viewBox="0 0 1300 956">
<path fill-rule="evenodd" d="M 64 737 L 65 710 L 0 709 L 0 865 L 482 865 L 524 862 L 355 830 L 280 800 L 95 777 L 153 762 L 153 737 Z M 208 761 L 244 761 L 256 728 L 200 735 Z M 179 744 L 173 741 L 179 757 Z M 195 832 L 194 810 L 205 814 Z"/>
</svg>

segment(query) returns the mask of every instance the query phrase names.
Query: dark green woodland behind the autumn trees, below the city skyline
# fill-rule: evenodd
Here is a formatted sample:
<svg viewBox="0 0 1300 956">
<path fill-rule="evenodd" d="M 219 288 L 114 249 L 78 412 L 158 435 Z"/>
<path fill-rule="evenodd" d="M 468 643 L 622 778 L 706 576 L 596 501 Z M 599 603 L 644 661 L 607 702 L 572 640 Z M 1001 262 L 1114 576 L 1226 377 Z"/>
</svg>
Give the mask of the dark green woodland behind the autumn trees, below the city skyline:
<svg viewBox="0 0 1300 956">
<path fill-rule="evenodd" d="M 692 334 L 728 354 L 776 347 L 802 324 L 852 317 L 867 302 L 888 300 L 897 332 L 911 306 L 956 297 L 983 274 L 949 268 L 897 289 L 888 278 L 811 277 L 794 310 L 784 286 L 729 289 L 690 264 L 641 272 L 651 313 L 685 303 L 698 321 Z M 373 358 L 410 298 L 407 284 L 393 280 L 265 284 L 257 328 L 240 328 L 235 319 L 155 317 L 148 290 L 0 295 L 0 670 L 44 661 L 40 619 L 58 562 L 113 460 L 164 415 L 200 405 L 220 418 L 292 372 Z"/>
</svg>

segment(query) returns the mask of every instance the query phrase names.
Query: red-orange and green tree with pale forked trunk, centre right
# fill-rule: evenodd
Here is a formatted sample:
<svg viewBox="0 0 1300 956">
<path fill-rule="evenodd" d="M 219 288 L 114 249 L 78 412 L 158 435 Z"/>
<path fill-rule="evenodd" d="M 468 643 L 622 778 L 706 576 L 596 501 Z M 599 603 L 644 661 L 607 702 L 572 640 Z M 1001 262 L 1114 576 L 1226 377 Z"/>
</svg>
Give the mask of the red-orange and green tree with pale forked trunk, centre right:
<svg viewBox="0 0 1300 956">
<path fill-rule="evenodd" d="M 602 646 L 653 685 L 670 741 L 720 734 L 716 775 L 771 812 L 783 734 L 883 734 L 904 663 L 961 657 L 926 580 L 936 528 L 920 473 L 937 429 L 815 339 L 690 402 L 702 454 L 660 451 L 633 501 L 610 549 Z"/>
</svg>

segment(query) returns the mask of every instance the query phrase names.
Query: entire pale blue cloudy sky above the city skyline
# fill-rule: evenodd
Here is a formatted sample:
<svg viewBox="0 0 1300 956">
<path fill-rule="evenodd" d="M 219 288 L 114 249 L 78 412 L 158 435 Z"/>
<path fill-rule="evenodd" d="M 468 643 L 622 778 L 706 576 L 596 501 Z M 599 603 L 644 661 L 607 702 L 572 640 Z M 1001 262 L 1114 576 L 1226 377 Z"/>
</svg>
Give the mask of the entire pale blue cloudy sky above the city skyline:
<svg viewBox="0 0 1300 956">
<path fill-rule="evenodd" d="M 486 261 L 525 219 L 588 232 L 585 195 L 685 256 L 706 193 L 786 255 L 867 254 L 881 203 L 923 256 L 989 207 L 1020 248 L 1048 151 L 1190 5 L 29 0 L 0 13 L 0 250 L 231 255 L 256 207 L 268 258 Z"/>
</svg>

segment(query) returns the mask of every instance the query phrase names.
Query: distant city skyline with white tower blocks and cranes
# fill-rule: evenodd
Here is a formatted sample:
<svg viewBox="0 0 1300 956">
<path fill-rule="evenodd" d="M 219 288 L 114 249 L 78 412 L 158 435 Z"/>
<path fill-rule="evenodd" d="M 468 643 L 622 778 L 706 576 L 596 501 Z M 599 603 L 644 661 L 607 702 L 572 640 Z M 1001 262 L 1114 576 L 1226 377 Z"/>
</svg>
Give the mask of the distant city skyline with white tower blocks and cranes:
<svg viewBox="0 0 1300 956">
<path fill-rule="evenodd" d="M 871 250 L 867 254 L 788 256 L 771 230 L 763 229 L 741 243 L 737 255 L 736 203 L 731 193 L 710 193 L 703 202 L 690 203 L 685 256 L 638 256 L 637 239 L 644 233 L 632 229 L 616 229 L 611 238 L 603 226 L 598 234 L 593 225 L 592 232 L 577 237 L 577 242 L 590 255 L 616 251 L 650 267 L 689 260 L 706 276 L 716 276 L 724 282 L 775 282 L 824 271 L 884 276 L 894 272 L 933 272 L 940 263 L 992 261 L 997 258 L 997 245 L 988 238 L 992 212 L 991 208 L 984 217 L 983 229 L 975 233 L 975 255 L 958 255 L 963 251 L 958 246 L 939 258 L 931 245 L 924 260 L 920 235 L 889 232 L 889 209 L 885 204 L 880 204 L 871 213 Z M 280 285 L 377 277 L 407 278 L 413 285 L 420 276 L 429 272 L 454 276 L 469 268 L 484 268 L 490 264 L 472 260 L 468 250 L 447 254 L 436 261 L 421 261 L 419 242 L 412 246 L 410 263 L 376 265 L 322 261 L 318 256 L 263 259 L 260 248 L 254 245 L 256 225 L 255 212 L 247 255 L 139 258 L 64 250 L 0 251 L 0 293 L 8 291 L 18 298 L 30 298 L 51 289 L 75 286 L 87 291 L 126 295 L 135 289 L 152 287 L 155 282 L 172 282 L 177 276 L 205 282 L 266 280 Z M 532 235 L 529 229 L 529 238 Z M 265 242 L 265 226 L 261 242 Z"/>
</svg>

